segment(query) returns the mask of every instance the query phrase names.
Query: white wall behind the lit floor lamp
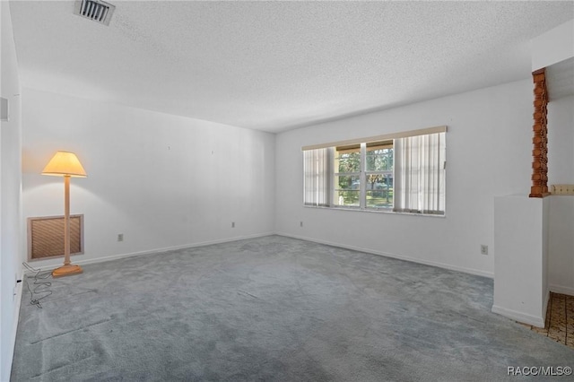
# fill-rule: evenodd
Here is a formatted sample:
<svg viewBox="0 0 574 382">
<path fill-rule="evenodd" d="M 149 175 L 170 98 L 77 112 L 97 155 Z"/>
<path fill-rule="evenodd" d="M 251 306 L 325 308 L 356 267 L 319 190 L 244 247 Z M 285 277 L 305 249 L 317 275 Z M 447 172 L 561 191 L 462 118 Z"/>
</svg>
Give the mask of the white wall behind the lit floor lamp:
<svg viewBox="0 0 574 382">
<path fill-rule="evenodd" d="M 71 182 L 71 213 L 84 215 L 84 255 L 72 256 L 74 263 L 269 234 L 274 140 L 260 131 L 24 88 L 23 215 L 64 213 L 63 179 L 40 175 L 64 150 L 75 152 L 88 174 Z"/>
</svg>

